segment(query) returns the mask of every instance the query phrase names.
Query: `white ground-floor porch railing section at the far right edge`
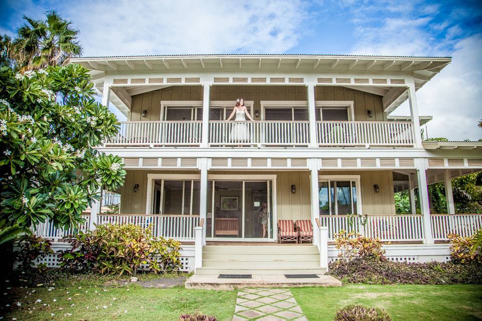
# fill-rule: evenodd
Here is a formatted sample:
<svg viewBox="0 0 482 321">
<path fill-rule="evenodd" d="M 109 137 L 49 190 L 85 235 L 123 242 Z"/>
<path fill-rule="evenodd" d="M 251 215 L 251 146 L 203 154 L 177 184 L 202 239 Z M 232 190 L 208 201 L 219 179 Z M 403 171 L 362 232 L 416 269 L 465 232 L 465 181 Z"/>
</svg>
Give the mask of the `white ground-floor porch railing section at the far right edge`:
<svg viewBox="0 0 482 321">
<path fill-rule="evenodd" d="M 471 236 L 482 228 L 482 214 L 435 214 L 430 216 L 430 221 L 436 241 L 448 240 L 449 234 Z"/>
</svg>

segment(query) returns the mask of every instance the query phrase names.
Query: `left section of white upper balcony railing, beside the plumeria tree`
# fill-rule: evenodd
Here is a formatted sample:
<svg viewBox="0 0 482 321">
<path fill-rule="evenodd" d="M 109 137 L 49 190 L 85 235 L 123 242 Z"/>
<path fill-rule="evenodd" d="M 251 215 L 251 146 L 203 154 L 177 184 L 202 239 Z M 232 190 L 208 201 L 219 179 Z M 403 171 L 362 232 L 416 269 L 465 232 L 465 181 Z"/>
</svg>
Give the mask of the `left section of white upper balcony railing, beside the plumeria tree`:
<svg viewBox="0 0 482 321">
<path fill-rule="evenodd" d="M 105 146 L 162 146 L 201 143 L 202 121 L 126 121 Z"/>
</svg>

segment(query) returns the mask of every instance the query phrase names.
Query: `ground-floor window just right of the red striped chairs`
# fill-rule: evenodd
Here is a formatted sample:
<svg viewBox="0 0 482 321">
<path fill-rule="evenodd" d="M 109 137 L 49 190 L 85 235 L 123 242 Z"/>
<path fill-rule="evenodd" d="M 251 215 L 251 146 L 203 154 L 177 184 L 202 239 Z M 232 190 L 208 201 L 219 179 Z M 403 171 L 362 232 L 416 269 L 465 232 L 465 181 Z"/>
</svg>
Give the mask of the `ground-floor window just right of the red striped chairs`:
<svg viewBox="0 0 482 321">
<path fill-rule="evenodd" d="M 321 180 L 318 188 L 320 215 L 357 214 L 358 185 L 358 179 Z"/>
</svg>

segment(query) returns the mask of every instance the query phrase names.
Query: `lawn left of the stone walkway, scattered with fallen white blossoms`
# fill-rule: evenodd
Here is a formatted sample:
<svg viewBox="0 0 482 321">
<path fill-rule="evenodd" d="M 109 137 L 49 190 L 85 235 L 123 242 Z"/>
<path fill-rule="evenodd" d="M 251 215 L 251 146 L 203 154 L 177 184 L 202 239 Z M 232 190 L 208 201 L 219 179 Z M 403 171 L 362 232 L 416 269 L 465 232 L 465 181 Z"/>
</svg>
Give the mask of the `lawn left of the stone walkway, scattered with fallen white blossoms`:
<svg viewBox="0 0 482 321">
<path fill-rule="evenodd" d="M 152 277 L 151 274 L 142 279 Z M 231 321 L 234 313 L 235 291 L 189 290 L 181 286 L 143 288 L 135 283 L 115 284 L 112 278 L 83 276 L 59 280 L 50 291 L 44 286 L 4 287 L 2 291 L 8 294 L 3 295 L 0 316 L 5 315 L 6 320 L 16 317 L 18 320 L 35 321 L 177 321 L 181 313 L 201 312 L 215 315 L 219 321 Z M 8 302 L 5 302 L 5 297 Z M 18 306 L 17 302 L 21 302 L 21 305 Z M 6 307 L 5 303 L 11 306 Z"/>
</svg>

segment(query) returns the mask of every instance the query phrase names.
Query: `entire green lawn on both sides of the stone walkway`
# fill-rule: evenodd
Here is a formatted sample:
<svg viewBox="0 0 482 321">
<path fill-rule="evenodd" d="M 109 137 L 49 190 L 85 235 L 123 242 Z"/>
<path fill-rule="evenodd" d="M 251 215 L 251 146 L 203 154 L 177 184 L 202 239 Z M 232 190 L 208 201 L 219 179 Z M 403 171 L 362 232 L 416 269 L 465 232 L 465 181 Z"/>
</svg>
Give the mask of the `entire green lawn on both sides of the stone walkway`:
<svg viewBox="0 0 482 321">
<path fill-rule="evenodd" d="M 141 279 L 152 277 L 157 276 Z M 58 280 L 50 291 L 45 286 L 9 289 L 7 283 L 0 293 L 0 316 L 19 321 L 177 321 L 181 313 L 199 311 L 215 315 L 219 321 L 231 321 L 234 312 L 237 291 L 143 288 L 112 282 L 109 277 L 70 277 Z M 291 291 L 312 321 L 331 321 L 338 307 L 355 303 L 385 308 L 394 321 L 482 320 L 480 285 L 346 285 Z"/>
</svg>

